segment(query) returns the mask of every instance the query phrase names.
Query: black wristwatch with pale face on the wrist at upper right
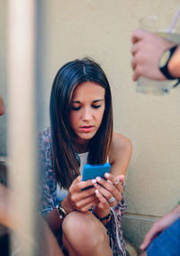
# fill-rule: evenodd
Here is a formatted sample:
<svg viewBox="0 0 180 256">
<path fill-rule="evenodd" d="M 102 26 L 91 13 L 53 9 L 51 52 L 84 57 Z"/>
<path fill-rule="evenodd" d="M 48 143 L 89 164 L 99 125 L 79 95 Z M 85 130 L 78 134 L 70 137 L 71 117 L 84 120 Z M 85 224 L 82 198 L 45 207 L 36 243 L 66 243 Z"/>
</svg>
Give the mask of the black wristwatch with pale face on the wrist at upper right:
<svg viewBox="0 0 180 256">
<path fill-rule="evenodd" d="M 176 80 L 176 78 L 172 76 L 167 69 L 167 64 L 170 61 L 171 57 L 173 56 L 173 53 L 175 52 L 176 48 L 177 48 L 177 45 L 169 49 L 166 49 L 165 52 L 163 52 L 162 55 L 160 56 L 160 59 L 158 62 L 159 70 L 166 76 L 166 79 L 168 80 Z"/>
</svg>

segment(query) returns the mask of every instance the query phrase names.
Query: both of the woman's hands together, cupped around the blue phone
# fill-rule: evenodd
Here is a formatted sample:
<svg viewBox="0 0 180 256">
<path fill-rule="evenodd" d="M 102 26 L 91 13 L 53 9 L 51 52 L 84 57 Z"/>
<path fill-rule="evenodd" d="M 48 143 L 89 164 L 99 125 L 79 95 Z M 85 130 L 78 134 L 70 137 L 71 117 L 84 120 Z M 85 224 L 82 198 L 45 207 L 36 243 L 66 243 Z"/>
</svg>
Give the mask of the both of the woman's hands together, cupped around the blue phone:
<svg viewBox="0 0 180 256">
<path fill-rule="evenodd" d="M 96 177 L 87 181 L 82 181 L 81 175 L 76 177 L 69 188 L 69 199 L 76 210 L 86 212 L 94 204 L 107 208 L 121 200 L 124 175 L 114 176 L 107 173 L 105 177 L 107 180 Z"/>
</svg>

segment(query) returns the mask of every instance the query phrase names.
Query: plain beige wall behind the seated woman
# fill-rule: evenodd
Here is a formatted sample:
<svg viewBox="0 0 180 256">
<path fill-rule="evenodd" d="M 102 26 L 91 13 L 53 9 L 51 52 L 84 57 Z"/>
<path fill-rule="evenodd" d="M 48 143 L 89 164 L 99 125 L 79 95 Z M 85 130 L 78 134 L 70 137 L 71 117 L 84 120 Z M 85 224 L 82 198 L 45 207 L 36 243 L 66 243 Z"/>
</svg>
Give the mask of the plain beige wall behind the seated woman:
<svg viewBox="0 0 180 256">
<path fill-rule="evenodd" d="M 130 35 L 147 14 L 175 14 L 176 0 L 54 0 L 44 3 L 42 47 L 45 126 L 58 68 L 91 56 L 112 86 L 114 130 L 133 144 L 126 177 L 124 233 L 136 246 L 150 224 L 179 199 L 180 88 L 166 97 L 140 95 L 131 81 Z"/>
</svg>

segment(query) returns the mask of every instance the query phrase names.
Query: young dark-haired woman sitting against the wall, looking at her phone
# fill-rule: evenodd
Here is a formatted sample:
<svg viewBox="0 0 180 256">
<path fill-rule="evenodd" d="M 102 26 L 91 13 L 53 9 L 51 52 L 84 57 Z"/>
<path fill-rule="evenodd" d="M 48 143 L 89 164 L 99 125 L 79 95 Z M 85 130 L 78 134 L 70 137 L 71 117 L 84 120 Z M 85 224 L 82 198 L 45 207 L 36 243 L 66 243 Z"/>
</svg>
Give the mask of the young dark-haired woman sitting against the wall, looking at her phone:
<svg viewBox="0 0 180 256">
<path fill-rule="evenodd" d="M 52 85 L 50 128 L 40 135 L 41 212 L 66 255 L 125 255 L 121 193 L 131 150 L 127 137 L 112 132 L 111 90 L 102 68 L 87 58 L 67 62 Z M 107 161 L 106 180 L 82 181 L 85 163 Z"/>
</svg>

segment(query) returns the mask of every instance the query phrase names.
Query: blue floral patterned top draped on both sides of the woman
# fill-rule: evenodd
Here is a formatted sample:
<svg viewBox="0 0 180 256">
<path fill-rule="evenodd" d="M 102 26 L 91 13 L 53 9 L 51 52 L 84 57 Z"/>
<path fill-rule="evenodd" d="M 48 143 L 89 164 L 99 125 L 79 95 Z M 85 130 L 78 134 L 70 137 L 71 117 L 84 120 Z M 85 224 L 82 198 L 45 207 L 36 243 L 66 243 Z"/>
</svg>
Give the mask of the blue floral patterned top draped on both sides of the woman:
<svg viewBox="0 0 180 256">
<path fill-rule="evenodd" d="M 50 128 L 40 133 L 40 212 L 46 215 L 55 209 L 59 203 L 57 198 L 57 179 L 53 170 L 52 143 Z M 126 209 L 123 198 L 111 207 L 112 219 L 106 225 L 111 237 L 113 256 L 126 255 L 123 234 L 121 230 L 121 217 Z"/>
</svg>

